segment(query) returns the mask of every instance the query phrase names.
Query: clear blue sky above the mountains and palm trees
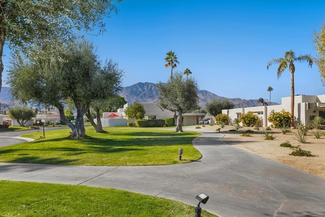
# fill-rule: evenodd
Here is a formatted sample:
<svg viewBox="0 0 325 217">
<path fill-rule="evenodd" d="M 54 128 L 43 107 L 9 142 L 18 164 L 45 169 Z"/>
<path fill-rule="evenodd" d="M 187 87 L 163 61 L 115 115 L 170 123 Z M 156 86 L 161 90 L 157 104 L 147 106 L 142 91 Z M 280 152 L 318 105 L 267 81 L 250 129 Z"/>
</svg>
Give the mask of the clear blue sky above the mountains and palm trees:
<svg viewBox="0 0 325 217">
<path fill-rule="evenodd" d="M 268 101 L 272 86 L 277 103 L 290 96 L 290 73 L 277 79 L 277 65 L 267 70 L 268 61 L 291 49 L 297 56 L 315 55 L 313 32 L 325 22 L 322 0 L 123 0 L 117 7 L 118 15 L 106 19 L 107 32 L 87 38 L 103 60 L 112 58 L 124 69 L 123 86 L 166 82 L 164 58 L 172 50 L 180 63 L 176 71 L 189 68 L 200 89 Z M 316 65 L 296 64 L 295 94 L 325 94 Z"/>
</svg>

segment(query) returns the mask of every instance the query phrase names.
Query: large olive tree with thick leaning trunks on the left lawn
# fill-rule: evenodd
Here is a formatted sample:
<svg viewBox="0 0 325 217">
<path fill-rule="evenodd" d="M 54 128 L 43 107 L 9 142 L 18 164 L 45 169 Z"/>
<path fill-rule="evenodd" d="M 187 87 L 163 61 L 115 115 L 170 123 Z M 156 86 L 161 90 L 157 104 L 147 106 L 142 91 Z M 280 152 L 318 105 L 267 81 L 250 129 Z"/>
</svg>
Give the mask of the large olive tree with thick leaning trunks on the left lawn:
<svg viewBox="0 0 325 217">
<path fill-rule="evenodd" d="M 35 51 L 35 52 L 34 52 Z M 121 88 L 122 70 L 111 70 L 112 60 L 104 65 L 86 42 L 72 42 L 54 51 L 35 49 L 27 56 L 16 54 L 9 71 L 14 99 L 55 106 L 61 120 L 73 133 L 85 136 L 83 116 L 94 100 L 105 100 Z M 77 109 L 76 124 L 64 115 L 64 105 L 71 100 Z"/>
</svg>

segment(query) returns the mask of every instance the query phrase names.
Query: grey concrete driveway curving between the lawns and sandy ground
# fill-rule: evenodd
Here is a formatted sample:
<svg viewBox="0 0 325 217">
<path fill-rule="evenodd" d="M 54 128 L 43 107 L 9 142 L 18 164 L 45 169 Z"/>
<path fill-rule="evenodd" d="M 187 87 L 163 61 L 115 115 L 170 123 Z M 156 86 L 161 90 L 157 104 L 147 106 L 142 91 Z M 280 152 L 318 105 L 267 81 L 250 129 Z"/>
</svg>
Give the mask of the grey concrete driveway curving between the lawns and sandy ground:
<svg viewBox="0 0 325 217">
<path fill-rule="evenodd" d="M 196 205 L 219 216 L 325 216 L 325 179 L 222 142 L 201 130 L 193 140 L 203 158 L 170 166 L 0 164 L 0 179 L 122 189 Z M 184 150 L 186 151 L 186 150 Z"/>
</svg>

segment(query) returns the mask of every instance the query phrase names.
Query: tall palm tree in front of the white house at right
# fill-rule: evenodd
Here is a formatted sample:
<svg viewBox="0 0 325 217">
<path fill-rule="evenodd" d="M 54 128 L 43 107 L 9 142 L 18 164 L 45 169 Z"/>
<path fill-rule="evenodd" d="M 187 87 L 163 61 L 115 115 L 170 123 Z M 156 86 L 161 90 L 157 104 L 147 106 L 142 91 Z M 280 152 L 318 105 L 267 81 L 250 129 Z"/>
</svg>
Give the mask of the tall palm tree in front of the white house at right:
<svg viewBox="0 0 325 217">
<path fill-rule="evenodd" d="M 308 66 L 310 67 L 313 64 L 312 57 L 309 54 L 296 57 L 295 52 L 293 50 L 290 50 L 284 53 L 284 58 L 280 57 L 277 59 L 272 59 L 271 61 L 269 61 L 267 65 L 267 69 L 269 70 L 269 67 L 271 65 L 279 64 L 279 67 L 277 69 L 278 79 L 281 76 L 282 72 L 284 72 L 284 70 L 288 68 L 289 65 L 289 72 L 291 74 L 291 127 L 294 126 L 294 111 L 295 111 L 294 110 L 295 107 L 294 62 L 295 61 L 298 61 L 299 63 L 308 62 Z"/>
</svg>

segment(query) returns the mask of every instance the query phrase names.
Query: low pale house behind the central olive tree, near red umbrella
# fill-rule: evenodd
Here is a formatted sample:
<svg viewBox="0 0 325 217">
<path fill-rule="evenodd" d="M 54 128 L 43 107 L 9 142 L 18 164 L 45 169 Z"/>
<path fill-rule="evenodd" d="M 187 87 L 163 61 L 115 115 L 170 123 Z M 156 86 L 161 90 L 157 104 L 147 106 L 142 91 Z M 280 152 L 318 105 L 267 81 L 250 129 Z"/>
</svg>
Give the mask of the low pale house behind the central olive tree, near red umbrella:
<svg viewBox="0 0 325 217">
<path fill-rule="evenodd" d="M 145 120 L 150 119 L 163 119 L 170 118 L 174 116 L 174 112 L 161 108 L 156 103 L 141 103 L 144 110 L 146 111 L 144 118 Z M 124 114 L 124 110 L 129 106 L 132 106 L 131 103 L 126 103 L 123 108 L 117 110 L 117 112 L 104 112 L 103 118 L 101 118 L 103 127 L 113 127 L 113 126 L 127 126 L 127 122 L 133 122 L 135 124 L 135 118 L 127 118 Z M 200 116 L 204 116 L 205 113 L 184 113 L 183 116 L 183 125 L 197 125 L 199 124 Z"/>
</svg>

